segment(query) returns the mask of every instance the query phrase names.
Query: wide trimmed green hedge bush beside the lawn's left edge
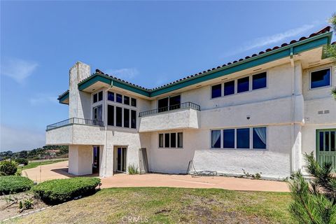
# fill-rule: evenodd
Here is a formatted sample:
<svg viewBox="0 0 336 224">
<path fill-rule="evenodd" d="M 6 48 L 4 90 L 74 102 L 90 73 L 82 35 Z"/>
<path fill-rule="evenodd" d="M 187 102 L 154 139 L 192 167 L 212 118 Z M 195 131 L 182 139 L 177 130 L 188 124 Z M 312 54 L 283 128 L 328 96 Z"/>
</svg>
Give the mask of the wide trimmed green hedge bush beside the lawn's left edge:
<svg viewBox="0 0 336 224">
<path fill-rule="evenodd" d="M 72 179 L 58 179 L 39 183 L 34 186 L 36 197 L 47 204 L 59 204 L 75 197 L 90 195 L 95 192 L 100 179 L 94 177 L 75 177 Z"/>
</svg>

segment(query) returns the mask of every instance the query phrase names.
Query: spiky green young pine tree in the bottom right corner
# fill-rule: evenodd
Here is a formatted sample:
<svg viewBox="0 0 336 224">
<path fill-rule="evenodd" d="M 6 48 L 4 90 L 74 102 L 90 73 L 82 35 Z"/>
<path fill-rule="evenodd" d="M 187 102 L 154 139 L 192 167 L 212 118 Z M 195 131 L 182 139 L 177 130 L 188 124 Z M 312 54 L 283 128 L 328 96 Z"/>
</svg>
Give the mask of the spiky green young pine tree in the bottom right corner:
<svg viewBox="0 0 336 224">
<path fill-rule="evenodd" d="M 313 153 L 305 154 L 307 171 L 313 177 L 305 181 L 300 170 L 293 174 L 290 191 L 293 202 L 290 213 L 299 223 L 336 223 L 336 176 L 332 163 L 318 164 Z"/>
</svg>

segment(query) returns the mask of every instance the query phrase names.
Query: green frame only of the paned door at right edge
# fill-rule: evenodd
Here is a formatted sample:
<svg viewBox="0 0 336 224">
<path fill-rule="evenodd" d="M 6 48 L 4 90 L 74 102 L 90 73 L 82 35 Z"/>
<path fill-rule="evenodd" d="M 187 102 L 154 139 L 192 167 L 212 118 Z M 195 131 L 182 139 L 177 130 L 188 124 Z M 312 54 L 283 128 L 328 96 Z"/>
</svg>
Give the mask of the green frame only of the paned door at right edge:
<svg viewBox="0 0 336 224">
<path fill-rule="evenodd" d="M 323 143 L 323 151 L 320 151 L 320 133 L 321 132 L 328 132 L 328 151 L 325 150 L 325 144 Z M 321 164 L 322 162 L 332 162 L 333 171 L 336 172 L 336 137 L 335 139 L 331 138 L 331 132 L 335 132 L 336 134 L 336 128 L 332 129 L 320 129 L 316 130 L 316 160 Z M 332 151 L 332 140 L 335 141 Z M 325 134 L 323 134 L 323 141 L 325 141 Z"/>
</svg>

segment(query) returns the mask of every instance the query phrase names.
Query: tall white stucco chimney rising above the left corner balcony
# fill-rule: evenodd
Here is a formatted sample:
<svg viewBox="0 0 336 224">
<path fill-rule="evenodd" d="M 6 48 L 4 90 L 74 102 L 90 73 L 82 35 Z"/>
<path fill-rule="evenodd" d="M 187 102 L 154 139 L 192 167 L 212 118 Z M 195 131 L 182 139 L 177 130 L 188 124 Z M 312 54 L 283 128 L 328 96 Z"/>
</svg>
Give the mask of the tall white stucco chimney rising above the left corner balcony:
<svg viewBox="0 0 336 224">
<path fill-rule="evenodd" d="M 69 71 L 69 118 L 90 119 L 90 94 L 78 90 L 78 83 L 90 76 L 90 66 L 76 62 Z"/>
</svg>

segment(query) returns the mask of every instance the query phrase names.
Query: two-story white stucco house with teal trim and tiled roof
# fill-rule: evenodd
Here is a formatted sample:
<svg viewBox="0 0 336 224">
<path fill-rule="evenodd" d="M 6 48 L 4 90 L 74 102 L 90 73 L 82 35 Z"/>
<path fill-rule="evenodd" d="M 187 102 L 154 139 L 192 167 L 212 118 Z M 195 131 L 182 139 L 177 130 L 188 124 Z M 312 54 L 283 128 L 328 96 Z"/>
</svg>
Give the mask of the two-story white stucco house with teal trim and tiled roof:
<svg viewBox="0 0 336 224">
<path fill-rule="evenodd" d="M 46 144 L 69 146 L 69 173 L 262 173 L 302 169 L 302 153 L 335 168 L 336 69 L 330 27 L 251 57 L 147 89 L 77 62 L 59 102 L 69 119 Z"/>
</svg>

